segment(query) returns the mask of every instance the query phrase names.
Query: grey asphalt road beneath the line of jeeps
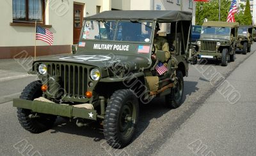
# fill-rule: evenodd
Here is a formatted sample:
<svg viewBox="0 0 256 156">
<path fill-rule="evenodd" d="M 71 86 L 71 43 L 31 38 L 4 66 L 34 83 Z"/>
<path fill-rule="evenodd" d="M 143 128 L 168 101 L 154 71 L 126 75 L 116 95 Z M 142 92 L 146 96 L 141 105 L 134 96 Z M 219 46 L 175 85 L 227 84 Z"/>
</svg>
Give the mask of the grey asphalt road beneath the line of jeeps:
<svg viewBox="0 0 256 156">
<path fill-rule="evenodd" d="M 100 127 L 77 127 L 58 118 L 40 134 L 25 131 L 17 120 L 12 98 L 36 80 L 27 67 L 0 60 L 1 155 L 255 155 L 256 44 L 247 55 L 237 54 L 227 67 L 209 62 L 189 67 L 184 78 L 184 103 L 164 108 L 155 99 L 140 108 L 140 121 L 132 143 L 122 150 L 110 148 Z M 17 67 L 13 67 L 17 66 Z M 21 76 L 22 75 L 22 76 Z M 214 75 L 223 76 L 232 91 L 221 93 Z M 221 86 L 221 84 L 219 85 Z M 225 90 L 224 90 L 225 91 Z M 232 94 L 236 92 L 238 94 Z M 228 96 L 232 94 L 233 96 Z M 237 101 L 236 95 L 240 95 Z M 225 97 L 227 96 L 227 97 Z M 233 104 L 234 101 L 237 103 Z"/>
</svg>

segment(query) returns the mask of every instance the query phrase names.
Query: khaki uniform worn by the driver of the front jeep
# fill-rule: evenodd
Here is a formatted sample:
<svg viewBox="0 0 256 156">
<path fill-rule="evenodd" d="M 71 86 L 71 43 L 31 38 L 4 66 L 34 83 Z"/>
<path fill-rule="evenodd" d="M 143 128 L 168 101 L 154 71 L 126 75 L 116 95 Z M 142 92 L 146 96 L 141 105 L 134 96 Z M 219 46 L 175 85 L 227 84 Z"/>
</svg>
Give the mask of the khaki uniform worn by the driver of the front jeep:
<svg viewBox="0 0 256 156">
<path fill-rule="evenodd" d="M 161 36 L 156 36 L 153 43 L 156 48 L 156 53 L 157 50 L 163 50 L 165 52 L 165 61 L 168 61 L 170 59 L 170 52 L 167 40 Z"/>
</svg>

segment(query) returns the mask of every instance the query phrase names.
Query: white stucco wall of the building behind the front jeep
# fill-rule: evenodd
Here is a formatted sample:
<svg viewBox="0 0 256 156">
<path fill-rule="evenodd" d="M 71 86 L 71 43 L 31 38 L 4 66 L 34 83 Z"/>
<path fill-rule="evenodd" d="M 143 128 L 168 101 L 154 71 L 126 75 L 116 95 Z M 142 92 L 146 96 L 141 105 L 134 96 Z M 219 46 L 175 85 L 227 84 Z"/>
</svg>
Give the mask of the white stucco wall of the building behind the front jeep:
<svg viewBox="0 0 256 156">
<path fill-rule="evenodd" d="M 96 6 L 101 6 L 101 11 L 111 10 L 111 0 L 63 0 L 63 4 L 58 0 L 45 1 L 45 24 L 52 25 L 47 29 L 54 34 L 53 45 L 72 45 L 73 43 L 74 2 L 85 4 L 84 17 L 94 15 Z M 12 1 L 1 1 L 0 11 L 0 46 L 34 46 L 35 27 L 10 25 L 13 21 Z M 48 44 L 36 40 L 36 45 Z"/>
</svg>

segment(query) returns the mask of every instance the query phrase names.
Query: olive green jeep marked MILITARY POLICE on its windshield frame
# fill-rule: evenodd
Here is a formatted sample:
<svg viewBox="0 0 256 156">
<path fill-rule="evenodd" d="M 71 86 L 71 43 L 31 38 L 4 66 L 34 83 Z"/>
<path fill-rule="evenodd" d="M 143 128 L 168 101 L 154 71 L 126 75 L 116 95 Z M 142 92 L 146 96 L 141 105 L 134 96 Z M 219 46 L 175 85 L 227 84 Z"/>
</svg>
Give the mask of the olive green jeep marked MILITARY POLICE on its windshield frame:
<svg viewBox="0 0 256 156">
<path fill-rule="evenodd" d="M 182 104 L 191 18 L 186 11 L 104 11 L 84 18 L 76 54 L 33 62 L 29 73 L 40 81 L 13 99 L 20 124 L 39 133 L 58 116 L 79 127 L 95 121 L 109 145 L 124 147 L 134 136 L 140 104 L 156 97 L 165 97 L 168 108 Z M 175 45 L 163 74 L 155 72 L 166 54 L 153 46 L 157 23 Z"/>
</svg>

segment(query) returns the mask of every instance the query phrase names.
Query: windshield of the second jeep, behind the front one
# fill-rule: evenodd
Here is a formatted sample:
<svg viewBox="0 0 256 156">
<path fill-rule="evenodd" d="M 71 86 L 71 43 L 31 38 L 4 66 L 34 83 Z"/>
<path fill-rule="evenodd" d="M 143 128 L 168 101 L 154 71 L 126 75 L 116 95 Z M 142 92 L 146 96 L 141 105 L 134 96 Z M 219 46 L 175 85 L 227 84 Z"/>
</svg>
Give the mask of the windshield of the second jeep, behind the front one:
<svg viewBox="0 0 256 156">
<path fill-rule="evenodd" d="M 230 27 L 203 27 L 201 34 L 218 34 L 230 36 Z"/>
</svg>

